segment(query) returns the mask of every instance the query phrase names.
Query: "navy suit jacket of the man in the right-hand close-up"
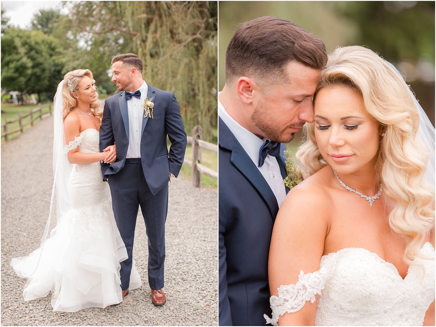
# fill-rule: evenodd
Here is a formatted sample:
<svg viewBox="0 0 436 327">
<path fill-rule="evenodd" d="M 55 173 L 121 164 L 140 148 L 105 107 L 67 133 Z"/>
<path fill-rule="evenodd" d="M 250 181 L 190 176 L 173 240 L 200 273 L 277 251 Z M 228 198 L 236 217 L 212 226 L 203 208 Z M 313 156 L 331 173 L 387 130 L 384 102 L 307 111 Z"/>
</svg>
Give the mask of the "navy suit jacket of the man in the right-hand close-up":
<svg viewBox="0 0 436 327">
<path fill-rule="evenodd" d="M 268 254 L 279 206 L 259 169 L 219 118 L 220 326 L 264 326 L 269 307 Z M 281 145 L 281 150 L 285 150 Z M 283 156 L 277 159 L 283 178 Z"/>
</svg>

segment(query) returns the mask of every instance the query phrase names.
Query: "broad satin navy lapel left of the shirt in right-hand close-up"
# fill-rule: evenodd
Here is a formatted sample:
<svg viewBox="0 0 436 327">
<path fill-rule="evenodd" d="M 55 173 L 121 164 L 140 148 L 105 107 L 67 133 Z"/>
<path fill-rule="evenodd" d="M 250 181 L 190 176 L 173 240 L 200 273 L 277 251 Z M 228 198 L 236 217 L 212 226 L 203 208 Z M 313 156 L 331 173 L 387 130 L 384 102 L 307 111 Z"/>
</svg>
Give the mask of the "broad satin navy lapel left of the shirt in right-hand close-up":
<svg viewBox="0 0 436 327">
<path fill-rule="evenodd" d="M 232 151 L 230 161 L 261 194 L 268 205 L 272 219 L 275 220 L 277 212 L 279 211 L 279 205 L 277 204 L 276 196 L 269 187 L 268 182 L 266 182 L 265 178 L 262 176 L 262 173 L 259 172 L 259 169 L 252 162 L 247 152 L 245 152 L 244 148 L 242 148 L 242 145 L 238 142 L 221 118 L 218 120 L 218 125 L 220 146 Z"/>
</svg>

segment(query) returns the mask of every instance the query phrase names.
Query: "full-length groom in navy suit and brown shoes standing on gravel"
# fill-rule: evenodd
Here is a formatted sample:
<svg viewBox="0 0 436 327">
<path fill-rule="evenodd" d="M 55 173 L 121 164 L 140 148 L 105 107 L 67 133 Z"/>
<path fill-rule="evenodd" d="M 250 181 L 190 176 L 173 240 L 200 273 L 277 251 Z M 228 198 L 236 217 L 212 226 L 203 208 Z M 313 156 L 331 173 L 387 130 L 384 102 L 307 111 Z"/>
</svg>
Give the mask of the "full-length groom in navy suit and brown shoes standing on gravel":
<svg viewBox="0 0 436 327">
<path fill-rule="evenodd" d="M 112 82 L 120 93 L 106 99 L 100 149 L 116 144 L 116 161 L 102 164 L 109 182 L 116 224 L 128 258 L 121 262 L 123 297 L 129 292 L 138 208 L 148 238 L 148 282 L 154 305 L 166 302 L 164 287 L 165 220 L 168 181 L 184 159 L 186 133 L 174 93 L 155 89 L 142 79 L 142 60 L 133 53 L 112 59 Z M 167 136 L 170 151 L 167 149 Z"/>
</svg>

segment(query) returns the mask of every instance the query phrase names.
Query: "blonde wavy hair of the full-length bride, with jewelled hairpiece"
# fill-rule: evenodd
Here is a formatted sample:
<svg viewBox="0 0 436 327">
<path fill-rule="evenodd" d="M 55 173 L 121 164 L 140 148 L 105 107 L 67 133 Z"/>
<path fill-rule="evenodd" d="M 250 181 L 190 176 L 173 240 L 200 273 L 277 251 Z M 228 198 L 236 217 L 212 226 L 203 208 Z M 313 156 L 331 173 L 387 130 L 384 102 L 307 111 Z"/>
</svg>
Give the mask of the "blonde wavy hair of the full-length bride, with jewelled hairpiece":
<svg viewBox="0 0 436 327">
<path fill-rule="evenodd" d="M 71 72 L 67 72 L 64 76 L 64 85 L 62 86 L 62 114 L 65 120 L 65 117 L 71 112 L 71 110 L 75 109 L 77 107 L 77 100 L 72 96 L 72 92 L 70 91 L 70 88 L 68 87 L 67 80 L 69 79 L 71 83 L 73 83 L 74 89 L 73 92 L 78 92 L 79 83 L 82 80 L 84 76 L 88 76 L 90 79 L 92 79 L 92 82 L 95 82 L 95 80 L 92 78 L 92 72 L 89 69 L 75 69 Z M 97 100 L 92 102 L 90 104 L 91 112 L 99 117 L 100 123 L 102 121 L 103 117 L 103 108 L 99 101 L 99 93 L 97 92 Z"/>
</svg>

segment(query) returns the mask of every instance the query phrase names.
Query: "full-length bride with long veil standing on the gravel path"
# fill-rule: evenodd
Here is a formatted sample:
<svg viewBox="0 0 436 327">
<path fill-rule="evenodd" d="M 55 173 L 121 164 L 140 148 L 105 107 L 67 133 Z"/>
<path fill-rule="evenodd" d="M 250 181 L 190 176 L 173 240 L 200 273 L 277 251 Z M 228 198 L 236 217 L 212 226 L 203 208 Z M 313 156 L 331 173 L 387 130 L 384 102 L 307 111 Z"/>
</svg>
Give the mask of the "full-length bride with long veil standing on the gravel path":
<svg viewBox="0 0 436 327">
<path fill-rule="evenodd" d="M 127 252 L 100 169 L 100 162 L 116 160 L 116 152 L 115 145 L 99 152 L 103 110 L 97 100 L 89 69 L 68 72 L 59 83 L 54 96 L 54 184 L 47 225 L 40 248 L 11 261 L 17 275 L 28 279 L 24 300 L 51 292 L 55 311 L 104 308 L 123 301 L 119 263 Z M 57 220 L 52 217 L 55 189 Z M 131 278 L 131 289 L 141 285 L 136 269 Z"/>
</svg>

